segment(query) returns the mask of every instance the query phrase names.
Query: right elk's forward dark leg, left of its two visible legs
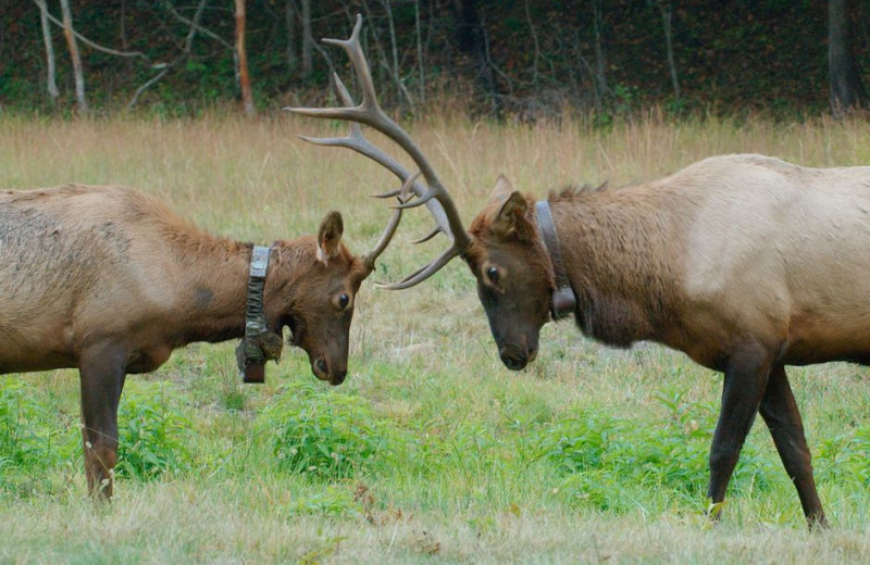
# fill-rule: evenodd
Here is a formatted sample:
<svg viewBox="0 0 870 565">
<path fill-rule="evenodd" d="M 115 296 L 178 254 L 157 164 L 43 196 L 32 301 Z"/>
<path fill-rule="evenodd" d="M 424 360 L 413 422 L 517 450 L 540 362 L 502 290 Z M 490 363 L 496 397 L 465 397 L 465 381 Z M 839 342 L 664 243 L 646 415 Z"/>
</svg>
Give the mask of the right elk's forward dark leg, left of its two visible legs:
<svg viewBox="0 0 870 565">
<path fill-rule="evenodd" d="M 722 385 L 722 407 L 710 448 L 707 498 L 713 504 L 725 500 L 729 480 L 765 393 L 770 359 L 762 347 L 755 344 L 729 360 Z"/>
</svg>

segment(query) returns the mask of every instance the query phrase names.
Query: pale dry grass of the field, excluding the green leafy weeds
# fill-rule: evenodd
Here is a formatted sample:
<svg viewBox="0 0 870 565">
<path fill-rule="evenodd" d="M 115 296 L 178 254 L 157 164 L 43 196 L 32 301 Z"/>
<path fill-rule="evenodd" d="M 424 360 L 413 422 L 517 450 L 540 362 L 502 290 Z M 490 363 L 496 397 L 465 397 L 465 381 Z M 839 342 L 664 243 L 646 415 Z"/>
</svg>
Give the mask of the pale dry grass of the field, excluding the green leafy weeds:
<svg viewBox="0 0 870 565">
<path fill-rule="evenodd" d="M 759 152 L 813 166 L 870 163 L 870 124 L 865 122 L 669 123 L 654 112 L 609 130 L 576 122 L 514 126 L 449 116 L 409 129 L 442 173 L 467 222 L 486 201 L 499 173 L 544 197 L 567 184 L 658 178 L 729 152 Z M 7 116 L 0 117 L 0 178 L 3 188 L 15 189 L 71 181 L 133 185 L 213 233 L 259 242 L 314 231 L 328 210 L 338 209 L 345 214 L 349 246 L 363 252 L 388 215 L 383 202 L 365 194 L 394 187 L 395 179 L 347 150 L 314 148 L 296 138 L 344 130 L 340 124 L 290 115 L 76 122 Z M 434 258 L 438 239 L 408 244 L 428 225 L 424 211 L 406 213 L 374 278 L 395 280 Z M 650 399 L 663 384 L 681 387 L 686 398 L 699 402 L 716 402 L 719 394 L 720 378 L 682 355 L 655 347 L 627 353 L 604 349 L 581 339 L 569 323 L 545 328 L 539 359 L 530 369 L 508 372 L 495 354 L 471 275 L 459 262 L 405 292 L 376 290 L 366 281 L 357 304 L 351 375 L 341 391 L 371 399 L 396 422 L 428 411 L 433 426 L 457 418 L 486 426 L 515 402 L 532 405 L 542 418 L 568 416 L 577 404 L 609 406 L 626 417 L 655 414 Z M 204 377 L 197 375 L 208 365 L 203 357 L 216 359 L 213 365 L 232 378 L 231 351 L 232 346 L 190 348 L 150 378 L 185 374 L 194 381 L 184 390 L 200 399 L 197 379 Z M 276 380 L 313 379 L 301 352 L 287 355 L 291 359 L 271 374 L 272 384 L 251 389 L 252 405 L 269 404 Z M 293 357 L 300 361 L 294 363 Z M 396 369 L 384 375 L 384 367 Z M 77 411 L 71 372 L 0 378 L 50 387 L 67 398 L 70 412 Z M 863 369 L 810 367 L 795 372 L 794 380 L 811 443 L 870 419 Z M 208 397 L 197 402 L 191 411 L 216 418 Z M 234 425 L 241 428 L 234 431 L 239 437 L 250 432 L 244 419 Z M 767 430 L 758 428 L 754 441 L 767 445 L 766 453 L 779 465 Z M 227 438 L 215 442 L 222 449 L 232 444 Z M 555 502 L 556 494 L 536 480 L 534 470 L 527 477 L 502 477 L 493 469 L 472 469 L 460 475 L 462 480 L 443 482 L 420 484 L 409 476 L 378 484 L 371 478 L 380 517 L 365 519 L 361 512 L 336 519 L 318 510 L 288 511 L 291 501 L 311 493 L 312 487 L 256 472 L 226 484 L 209 477 L 122 481 L 114 504 L 95 511 L 83 500 L 80 466 L 79 461 L 71 463 L 54 482 L 53 494 L 0 499 L 0 562 L 870 560 L 867 484 L 822 489 L 835 528 L 810 535 L 804 530 L 797 497 L 787 489 L 781 500 L 733 500 L 723 523 L 710 530 L 699 513 L 686 514 L 676 501 L 673 512 L 652 515 L 643 501 L 629 515 L 571 512 Z"/>
</svg>

